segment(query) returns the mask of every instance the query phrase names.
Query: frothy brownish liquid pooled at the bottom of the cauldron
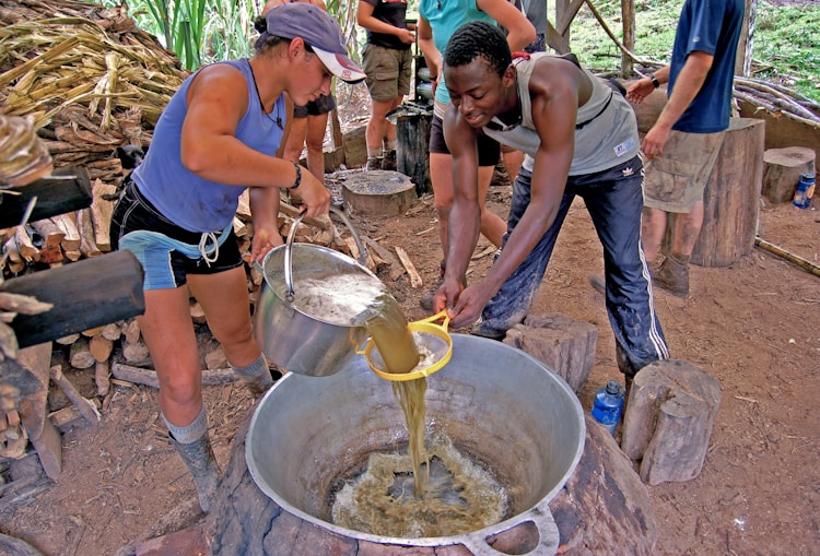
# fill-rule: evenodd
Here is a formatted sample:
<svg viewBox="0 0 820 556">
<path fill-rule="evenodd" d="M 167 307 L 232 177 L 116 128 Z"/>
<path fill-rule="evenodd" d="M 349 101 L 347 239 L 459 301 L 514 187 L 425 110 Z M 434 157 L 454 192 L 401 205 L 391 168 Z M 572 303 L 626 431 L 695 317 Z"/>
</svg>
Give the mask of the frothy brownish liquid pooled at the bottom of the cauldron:
<svg viewBox="0 0 820 556">
<path fill-rule="evenodd" d="M 409 456 L 371 453 L 364 472 L 336 494 L 333 523 L 363 533 L 419 539 L 469 533 L 505 518 L 506 493 L 492 473 L 444 435 L 429 439 L 427 454 L 427 489 L 418 497 Z"/>
</svg>

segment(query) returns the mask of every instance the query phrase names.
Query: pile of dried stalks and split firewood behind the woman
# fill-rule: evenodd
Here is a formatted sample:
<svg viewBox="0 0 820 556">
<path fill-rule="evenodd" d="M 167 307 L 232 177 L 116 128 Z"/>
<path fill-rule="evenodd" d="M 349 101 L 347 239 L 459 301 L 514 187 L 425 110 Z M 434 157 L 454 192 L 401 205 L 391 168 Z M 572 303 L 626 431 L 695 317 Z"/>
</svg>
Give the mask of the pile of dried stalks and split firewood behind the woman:
<svg viewBox="0 0 820 556">
<path fill-rule="evenodd" d="M 186 73 L 173 52 L 136 27 L 127 16 L 125 4 L 106 9 L 84 0 L 0 0 L 0 114 L 26 118 L 52 158 L 54 175 L 67 168 L 81 168 L 87 174 L 86 181 L 93 193 L 87 209 L 32 222 L 24 217 L 19 225 L 0 229 L 0 270 L 5 279 L 13 279 L 112 250 L 108 227 L 115 193 L 126 176 L 114 152 L 129 144 L 150 144 L 160 114 Z M 7 187 L 9 185 L 7 181 Z M 2 191 L 0 187 L 0 200 L 10 197 Z M 40 197 L 39 203 L 43 202 Z M 283 237 L 298 212 L 281 203 L 279 224 Z M 249 256 L 254 230 L 247 194 L 241 200 L 234 230 L 241 252 L 246 253 L 253 303 L 262 276 Z M 329 217 L 304 218 L 294 240 L 359 256 L 355 242 L 342 238 Z M 368 240 L 371 247 L 382 251 L 380 256 L 374 252 L 368 258 L 371 270 L 390 267 L 393 280 L 403 274 L 402 263 L 387 249 Z M 0 307 L 0 318 L 14 318 L 13 311 L 2 312 L 4 310 Z M 201 308 L 194 299 L 191 317 L 206 328 Z M 8 330 L 0 329 L 0 335 L 3 333 L 8 335 Z M 15 353 L 13 331 L 11 334 L 8 357 L 14 357 Z M 203 382 L 233 380 L 233 374 L 226 372 L 224 355 L 214 344 L 202 343 L 209 351 L 203 354 L 203 367 L 208 369 Z M 104 407 L 110 399 L 112 383 L 156 386 L 136 318 L 72 333 L 56 340 L 54 346 L 66 354 L 70 367 L 93 369 L 98 397 L 92 397 L 95 404 L 79 394 L 71 399 L 70 381 L 61 369 L 52 369 L 50 380 L 72 402 L 51 415 L 58 426 L 78 417 L 95 421 L 93 414 L 97 407 Z M 0 404 L 4 404 L 0 406 L 12 407 L 15 393 L 3 391 L 0 395 Z M 0 427 L 10 430 L 7 438 L 22 442 L 15 440 L 13 411 L 0 411 L 0 417 L 4 417 L 0 419 Z"/>
</svg>

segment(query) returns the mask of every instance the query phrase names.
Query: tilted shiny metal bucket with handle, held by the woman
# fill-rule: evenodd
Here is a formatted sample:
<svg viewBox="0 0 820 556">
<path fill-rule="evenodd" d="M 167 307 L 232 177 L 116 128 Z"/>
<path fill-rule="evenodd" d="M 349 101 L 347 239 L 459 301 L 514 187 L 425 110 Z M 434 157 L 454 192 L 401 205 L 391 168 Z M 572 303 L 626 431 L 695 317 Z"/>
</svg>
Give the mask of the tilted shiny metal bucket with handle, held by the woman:
<svg viewBox="0 0 820 556">
<path fill-rule="evenodd" d="M 350 227 L 365 260 L 367 251 L 348 217 L 332 209 Z M 282 369 L 311 377 L 337 372 L 367 339 L 363 327 L 340 324 L 327 316 L 294 305 L 294 288 L 317 276 L 351 274 L 372 287 L 384 284 L 362 262 L 313 244 L 294 244 L 302 216 L 293 223 L 285 245 L 271 249 L 259 268 L 265 277 L 254 314 L 254 336 L 262 353 Z M 351 318 L 355 317 L 351 315 Z"/>
</svg>

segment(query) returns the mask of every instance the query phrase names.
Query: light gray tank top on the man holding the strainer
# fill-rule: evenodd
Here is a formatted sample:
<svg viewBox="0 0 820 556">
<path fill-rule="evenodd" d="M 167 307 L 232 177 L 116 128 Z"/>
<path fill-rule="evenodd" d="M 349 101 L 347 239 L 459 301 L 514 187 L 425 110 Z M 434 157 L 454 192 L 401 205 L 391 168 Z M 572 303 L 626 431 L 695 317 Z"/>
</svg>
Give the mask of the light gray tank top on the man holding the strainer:
<svg viewBox="0 0 820 556">
<path fill-rule="evenodd" d="M 548 52 L 536 52 L 530 58 L 514 60 L 518 78 L 518 96 L 522 102 L 522 123 L 501 131 L 484 127 L 484 133 L 502 144 L 517 149 L 527 156 L 523 166 L 532 171 L 541 139 L 532 123 L 532 103 L 529 96 L 529 80 L 536 62 Z M 612 91 L 604 81 L 583 70 L 593 82 L 593 95 L 578 108 L 575 118 L 575 152 L 570 166 L 570 176 L 604 171 L 637 155 L 641 141 L 637 137 L 635 113 L 625 98 Z"/>
</svg>

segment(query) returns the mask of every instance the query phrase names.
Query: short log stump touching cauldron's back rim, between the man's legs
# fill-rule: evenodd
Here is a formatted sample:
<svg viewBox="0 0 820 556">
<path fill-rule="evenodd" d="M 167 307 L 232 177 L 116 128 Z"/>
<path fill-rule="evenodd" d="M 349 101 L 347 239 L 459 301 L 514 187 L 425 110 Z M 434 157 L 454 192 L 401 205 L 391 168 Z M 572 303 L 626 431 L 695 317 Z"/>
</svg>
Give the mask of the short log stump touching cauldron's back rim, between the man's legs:
<svg viewBox="0 0 820 556">
<path fill-rule="evenodd" d="M 507 330 L 504 343 L 542 360 L 577 392 L 595 363 L 598 329 L 566 315 L 529 315 Z"/>
</svg>

